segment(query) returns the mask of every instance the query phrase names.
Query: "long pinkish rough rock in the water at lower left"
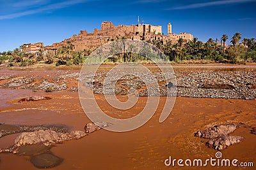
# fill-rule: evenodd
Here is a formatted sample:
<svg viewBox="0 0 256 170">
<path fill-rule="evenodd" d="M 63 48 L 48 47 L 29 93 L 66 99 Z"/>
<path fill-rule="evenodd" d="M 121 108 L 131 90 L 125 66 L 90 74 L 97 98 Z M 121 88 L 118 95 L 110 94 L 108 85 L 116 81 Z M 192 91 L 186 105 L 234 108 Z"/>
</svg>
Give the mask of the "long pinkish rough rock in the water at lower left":
<svg viewBox="0 0 256 170">
<path fill-rule="evenodd" d="M 15 139 L 14 148 L 18 148 L 22 145 L 35 144 L 51 146 L 57 143 L 70 141 L 71 139 L 83 138 L 84 136 L 86 136 L 86 133 L 83 131 L 71 131 L 62 133 L 51 130 L 39 130 L 34 132 L 23 132 Z"/>
</svg>

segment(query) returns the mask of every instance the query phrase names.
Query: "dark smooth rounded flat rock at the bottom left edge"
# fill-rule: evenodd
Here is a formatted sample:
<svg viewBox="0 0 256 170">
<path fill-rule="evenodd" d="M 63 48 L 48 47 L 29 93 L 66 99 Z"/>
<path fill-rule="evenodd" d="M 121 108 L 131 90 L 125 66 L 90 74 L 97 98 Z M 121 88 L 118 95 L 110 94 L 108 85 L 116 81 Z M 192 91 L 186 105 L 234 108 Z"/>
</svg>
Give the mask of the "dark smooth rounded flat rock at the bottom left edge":
<svg viewBox="0 0 256 170">
<path fill-rule="evenodd" d="M 31 157 L 30 162 L 35 167 L 43 169 L 56 167 L 61 164 L 61 162 L 63 162 L 63 159 L 57 157 L 56 155 L 53 155 L 52 153 L 41 153 L 39 155 Z"/>
</svg>

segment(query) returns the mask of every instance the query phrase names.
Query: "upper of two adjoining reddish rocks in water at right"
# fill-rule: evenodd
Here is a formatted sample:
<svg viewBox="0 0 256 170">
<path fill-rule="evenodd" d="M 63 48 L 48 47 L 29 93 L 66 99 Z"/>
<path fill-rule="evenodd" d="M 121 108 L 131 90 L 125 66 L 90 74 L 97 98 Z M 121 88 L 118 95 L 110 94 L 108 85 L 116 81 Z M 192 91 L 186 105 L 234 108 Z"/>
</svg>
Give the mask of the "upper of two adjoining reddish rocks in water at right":
<svg viewBox="0 0 256 170">
<path fill-rule="evenodd" d="M 195 136 L 205 139 L 218 138 L 220 136 L 227 136 L 228 134 L 234 132 L 237 129 L 236 124 L 227 124 L 227 125 L 215 125 L 210 129 L 205 131 L 198 131 L 195 133 Z"/>
</svg>

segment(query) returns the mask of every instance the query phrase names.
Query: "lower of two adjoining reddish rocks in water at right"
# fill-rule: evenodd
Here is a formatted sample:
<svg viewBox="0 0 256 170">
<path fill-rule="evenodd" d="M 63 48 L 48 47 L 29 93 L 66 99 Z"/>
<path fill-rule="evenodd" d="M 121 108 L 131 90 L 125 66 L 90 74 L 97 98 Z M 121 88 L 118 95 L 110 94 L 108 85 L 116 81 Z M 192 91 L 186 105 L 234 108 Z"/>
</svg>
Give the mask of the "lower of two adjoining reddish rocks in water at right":
<svg viewBox="0 0 256 170">
<path fill-rule="evenodd" d="M 214 150 L 223 150 L 230 145 L 234 145 L 236 143 L 240 143 L 244 138 L 242 136 L 223 136 L 220 138 L 214 138 L 205 143 L 209 148 L 213 148 Z"/>
</svg>

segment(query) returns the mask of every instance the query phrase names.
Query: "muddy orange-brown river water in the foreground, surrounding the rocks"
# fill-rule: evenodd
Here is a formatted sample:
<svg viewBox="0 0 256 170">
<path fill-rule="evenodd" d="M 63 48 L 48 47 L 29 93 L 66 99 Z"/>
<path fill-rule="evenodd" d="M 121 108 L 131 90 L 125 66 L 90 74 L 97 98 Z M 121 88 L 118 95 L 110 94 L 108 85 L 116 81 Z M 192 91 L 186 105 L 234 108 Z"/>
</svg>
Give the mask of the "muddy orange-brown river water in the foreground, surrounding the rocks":
<svg viewBox="0 0 256 170">
<path fill-rule="evenodd" d="M 24 96 L 49 96 L 48 101 L 17 103 Z M 102 108 L 111 110 L 102 95 L 96 95 Z M 120 97 L 125 101 L 126 97 Z M 147 98 L 140 97 L 136 107 L 143 108 Z M 243 136 L 242 143 L 222 151 L 225 159 L 254 162 L 256 166 L 256 136 L 250 127 L 256 126 L 256 101 L 234 99 L 198 99 L 177 97 L 170 116 L 159 124 L 163 108 L 161 97 L 155 115 L 139 129 L 130 132 L 100 130 L 82 139 L 68 141 L 51 148 L 64 159 L 60 166 L 52 169 L 216 169 L 216 167 L 166 167 L 164 160 L 215 158 L 215 150 L 209 149 L 204 139 L 193 134 L 200 129 L 221 123 L 243 123 L 234 134 Z M 111 111 L 109 113 L 111 115 Z M 134 111 L 113 111 L 113 117 L 133 117 Z M 31 90 L 0 89 L 0 123 L 39 125 L 64 124 L 71 129 L 83 131 L 90 122 L 79 103 L 77 92 L 31 92 Z M 0 148 L 10 146 L 17 134 L 0 138 Z M 36 169 L 29 157 L 0 154 L 0 169 Z M 13 164 L 15 162 L 15 164 Z M 220 169 L 227 169 L 221 168 Z M 228 169 L 234 169 L 230 167 Z M 239 169 L 239 168 L 237 168 Z M 243 169 L 240 167 L 240 169 Z M 248 167 L 255 169 L 255 167 Z"/>
</svg>

